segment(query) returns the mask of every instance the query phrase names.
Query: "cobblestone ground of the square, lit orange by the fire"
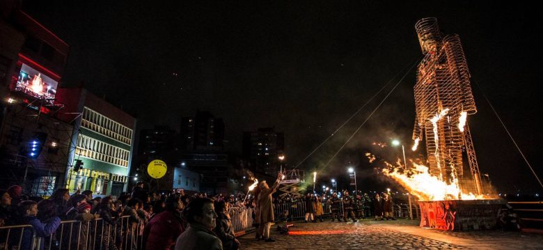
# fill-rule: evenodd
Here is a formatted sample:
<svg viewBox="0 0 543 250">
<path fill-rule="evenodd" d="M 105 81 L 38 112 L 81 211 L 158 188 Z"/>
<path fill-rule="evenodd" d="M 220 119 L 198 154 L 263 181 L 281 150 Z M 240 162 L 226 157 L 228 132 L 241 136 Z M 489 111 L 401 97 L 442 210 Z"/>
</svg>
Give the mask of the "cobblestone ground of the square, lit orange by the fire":
<svg viewBox="0 0 543 250">
<path fill-rule="evenodd" d="M 272 226 L 276 242 L 239 238 L 241 249 L 543 249 L 543 235 L 518 232 L 445 232 L 418 227 L 418 221 L 359 220 L 352 223 L 294 222 L 290 235 Z"/>
</svg>

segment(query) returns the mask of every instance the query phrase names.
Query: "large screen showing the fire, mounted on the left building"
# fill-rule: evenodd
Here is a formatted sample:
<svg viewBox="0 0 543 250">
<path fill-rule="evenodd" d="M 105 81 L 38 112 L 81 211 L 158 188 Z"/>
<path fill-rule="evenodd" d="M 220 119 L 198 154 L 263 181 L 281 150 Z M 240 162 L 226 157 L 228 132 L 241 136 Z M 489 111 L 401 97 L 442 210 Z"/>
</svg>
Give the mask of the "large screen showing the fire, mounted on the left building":
<svg viewBox="0 0 543 250">
<path fill-rule="evenodd" d="M 23 63 L 15 91 L 41 99 L 54 99 L 58 82 Z"/>
</svg>

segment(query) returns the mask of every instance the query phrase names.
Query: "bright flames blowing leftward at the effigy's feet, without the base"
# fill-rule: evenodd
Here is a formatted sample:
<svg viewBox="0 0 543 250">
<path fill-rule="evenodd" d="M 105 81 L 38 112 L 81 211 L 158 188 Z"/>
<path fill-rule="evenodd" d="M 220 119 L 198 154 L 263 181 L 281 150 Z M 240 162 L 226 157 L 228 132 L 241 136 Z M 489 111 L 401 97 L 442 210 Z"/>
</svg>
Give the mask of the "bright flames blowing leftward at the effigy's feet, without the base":
<svg viewBox="0 0 543 250">
<path fill-rule="evenodd" d="M 428 167 L 420 164 L 413 164 L 413 167 L 405 171 L 403 166 L 393 166 L 385 162 L 388 168 L 383 169 L 384 175 L 393 178 L 407 189 L 407 191 L 418 197 L 419 201 L 447 201 L 447 200 L 487 200 L 494 197 L 487 195 L 475 195 L 471 192 L 463 192 L 459 189 L 458 180 L 455 178 L 452 183 L 439 180 L 437 176 L 430 175 Z"/>
</svg>

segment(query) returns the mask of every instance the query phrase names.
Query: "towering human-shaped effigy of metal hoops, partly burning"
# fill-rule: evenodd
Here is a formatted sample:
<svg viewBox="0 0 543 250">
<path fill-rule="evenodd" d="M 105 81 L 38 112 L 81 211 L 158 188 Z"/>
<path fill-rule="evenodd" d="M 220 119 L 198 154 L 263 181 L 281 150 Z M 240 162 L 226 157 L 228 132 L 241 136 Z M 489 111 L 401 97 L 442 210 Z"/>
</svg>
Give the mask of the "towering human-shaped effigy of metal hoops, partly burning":
<svg viewBox="0 0 543 250">
<path fill-rule="evenodd" d="M 482 194 L 479 167 L 466 122 L 475 114 L 466 56 L 458 35 L 443 36 L 436 18 L 423 18 L 415 29 L 424 58 L 414 86 L 416 120 L 413 139 L 426 140 L 430 174 L 475 194 Z M 471 177 L 465 175 L 465 152 Z"/>
</svg>

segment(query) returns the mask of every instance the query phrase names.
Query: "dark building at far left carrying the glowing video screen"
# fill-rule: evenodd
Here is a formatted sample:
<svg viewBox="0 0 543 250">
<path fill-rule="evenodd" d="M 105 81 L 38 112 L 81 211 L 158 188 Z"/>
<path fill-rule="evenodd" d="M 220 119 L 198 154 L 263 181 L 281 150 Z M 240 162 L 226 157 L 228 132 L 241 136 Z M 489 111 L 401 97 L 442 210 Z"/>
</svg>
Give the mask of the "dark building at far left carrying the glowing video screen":
<svg viewBox="0 0 543 250">
<path fill-rule="evenodd" d="M 56 98 L 69 46 L 19 9 L 0 1 L 0 186 L 50 195 L 64 180 L 72 125 Z"/>
</svg>

